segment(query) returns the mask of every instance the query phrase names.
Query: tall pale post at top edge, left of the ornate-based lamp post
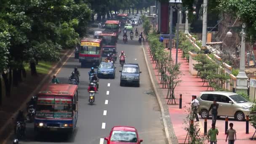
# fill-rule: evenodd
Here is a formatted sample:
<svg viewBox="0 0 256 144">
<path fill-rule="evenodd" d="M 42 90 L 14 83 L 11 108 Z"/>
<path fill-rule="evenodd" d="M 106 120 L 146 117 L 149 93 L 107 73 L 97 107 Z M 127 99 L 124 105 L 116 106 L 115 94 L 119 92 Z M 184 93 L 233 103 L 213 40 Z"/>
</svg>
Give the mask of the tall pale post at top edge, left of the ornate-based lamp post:
<svg viewBox="0 0 256 144">
<path fill-rule="evenodd" d="M 202 49 L 206 48 L 206 34 L 207 34 L 207 1 L 203 0 L 203 34 L 202 34 Z"/>
</svg>

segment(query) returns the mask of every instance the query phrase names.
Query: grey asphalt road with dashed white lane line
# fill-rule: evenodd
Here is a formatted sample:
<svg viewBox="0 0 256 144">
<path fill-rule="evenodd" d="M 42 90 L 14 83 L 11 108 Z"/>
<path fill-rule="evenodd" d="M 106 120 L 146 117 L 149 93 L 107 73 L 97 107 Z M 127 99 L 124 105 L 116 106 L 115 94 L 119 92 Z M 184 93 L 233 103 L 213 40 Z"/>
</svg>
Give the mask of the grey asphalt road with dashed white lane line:
<svg viewBox="0 0 256 144">
<path fill-rule="evenodd" d="M 134 31 L 133 31 L 134 32 Z M 128 32 L 129 33 L 129 32 Z M 135 33 L 134 33 L 135 34 Z M 115 125 L 134 126 L 139 131 L 142 144 L 165 144 L 163 121 L 160 107 L 152 93 L 151 81 L 138 38 L 129 39 L 124 44 L 118 40 L 117 51 L 125 51 L 126 63 L 138 63 L 140 66 L 140 87 L 120 87 L 121 66 L 115 63 L 115 79 L 100 79 L 99 92 L 96 93 L 94 105 L 88 104 L 88 68 L 80 68 L 78 59 L 72 55 L 57 75 L 61 83 L 68 83 L 68 77 L 77 66 L 80 71 L 79 84 L 79 116 L 77 128 L 72 136 L 59 133 L 43 133 L 36 135 L 33 124 L 27 124 L 26 138 L 20 144 L 103 144 L 111 128 Z M 117 61 L 119 62 L 119 61 Z M 152 93 L 152 94 L 150 94 Z M 13 135 L 7 143 L 11 144 Z M 106 141 L 104 141 L 106 144 Z"/>
</svg>

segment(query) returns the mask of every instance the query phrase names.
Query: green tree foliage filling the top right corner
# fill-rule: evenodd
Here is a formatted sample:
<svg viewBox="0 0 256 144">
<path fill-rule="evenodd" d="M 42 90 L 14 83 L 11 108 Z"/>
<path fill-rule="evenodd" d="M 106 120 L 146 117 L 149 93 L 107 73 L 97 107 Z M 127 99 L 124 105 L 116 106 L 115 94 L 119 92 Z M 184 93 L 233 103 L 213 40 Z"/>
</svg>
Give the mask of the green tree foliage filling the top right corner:
<svg viewBox="0 0 256 144">
<path fill-rule="evenodd" d="M 256 41 L 256 2 L 255 0 L 217 0 L 222 13 L 231 13 L 234 18 L 245 23 L 247 39 Z"/>
</svg>

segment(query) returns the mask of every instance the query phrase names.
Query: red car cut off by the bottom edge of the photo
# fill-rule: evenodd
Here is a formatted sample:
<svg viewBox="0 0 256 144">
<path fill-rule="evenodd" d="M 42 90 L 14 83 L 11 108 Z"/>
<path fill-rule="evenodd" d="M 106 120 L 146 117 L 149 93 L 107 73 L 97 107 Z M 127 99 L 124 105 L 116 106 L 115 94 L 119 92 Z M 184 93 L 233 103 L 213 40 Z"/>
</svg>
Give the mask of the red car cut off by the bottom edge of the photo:
<svg viewBox="0 0 256 144">
<path fill-rule="evenodd" d="M 107 144 L 140 144 L 143 141 L 136 128 L 130 126 L 114 126 L 105 140 Z"/>
</svg>

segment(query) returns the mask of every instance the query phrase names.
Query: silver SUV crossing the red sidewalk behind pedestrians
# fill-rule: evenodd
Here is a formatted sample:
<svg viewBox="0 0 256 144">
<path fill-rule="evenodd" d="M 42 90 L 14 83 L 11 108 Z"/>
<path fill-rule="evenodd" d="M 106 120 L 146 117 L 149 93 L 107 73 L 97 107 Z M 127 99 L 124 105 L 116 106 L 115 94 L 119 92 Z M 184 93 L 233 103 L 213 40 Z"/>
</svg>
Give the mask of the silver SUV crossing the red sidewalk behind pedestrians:
<svg viewBox="0 0 256 144">
<path fill-rule="evenodd" d="M 197 98 L 199 101 L 199 115 L 202 118 L 206 118 L 211 115 L 208 112 L 213 100 L 219 104 L 218 117 L 228 116 L 235 117 L 236 120 L 245 120 L 245 115 L 249 115 L 253 106 L 252 102 L 247 101 L 243 96 L 237 93 L 225 92 L 225 91 L 204 91 L 201 92 Z"/>
</svg>

